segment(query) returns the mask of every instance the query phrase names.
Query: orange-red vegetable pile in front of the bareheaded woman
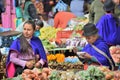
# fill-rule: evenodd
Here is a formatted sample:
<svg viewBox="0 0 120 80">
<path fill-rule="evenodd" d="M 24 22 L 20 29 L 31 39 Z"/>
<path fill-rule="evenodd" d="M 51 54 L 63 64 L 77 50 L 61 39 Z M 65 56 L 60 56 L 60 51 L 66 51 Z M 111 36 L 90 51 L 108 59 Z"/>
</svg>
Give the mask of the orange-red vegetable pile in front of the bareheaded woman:
<svg viewBox="0 0 120 80">
<path fill-rule="evenodd" d="M 34 68 L 33 70 L 25 69 L 22 73 L 23 80 L 48 80 L 51 69 L 43 68 L 42 70 Z"/>
</svg>

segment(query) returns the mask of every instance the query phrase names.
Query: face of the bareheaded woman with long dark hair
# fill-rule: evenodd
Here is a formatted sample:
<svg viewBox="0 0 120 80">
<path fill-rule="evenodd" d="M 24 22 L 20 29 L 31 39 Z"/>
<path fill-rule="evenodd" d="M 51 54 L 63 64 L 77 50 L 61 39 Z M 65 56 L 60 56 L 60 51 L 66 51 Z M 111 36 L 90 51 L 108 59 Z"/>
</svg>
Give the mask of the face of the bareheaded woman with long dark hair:
<svg viewBox="0 0 120 80">
<path fill-rule="evenodd" d="M 32 25 L 26 23 L 26 24 L 23 26 L 23 35 L 24 35 L 26 38 L 32 38 L 33 34 L 34 34 L 34 29 L 33 29 Z"/>
</svg>

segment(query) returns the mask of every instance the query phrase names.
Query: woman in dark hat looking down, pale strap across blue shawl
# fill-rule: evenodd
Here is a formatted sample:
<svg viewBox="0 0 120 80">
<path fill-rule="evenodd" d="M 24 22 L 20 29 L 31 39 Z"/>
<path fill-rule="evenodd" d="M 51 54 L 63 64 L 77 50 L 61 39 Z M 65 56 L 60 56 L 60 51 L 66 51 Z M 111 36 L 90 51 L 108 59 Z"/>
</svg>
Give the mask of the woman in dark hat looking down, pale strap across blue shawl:
<svg viewBox="0 0 120 80">
<path fill-rule="evenodd" d="M 109 52 L 109 47 L 98 35 L 98 29 L 92 23 L 88 23 L 83 28 L 83 36 L 85 36 L 88 44 L 83 48 L 84 60 L 83 63 L 107 66 L 110 69 L 114 68 L 114 62 Z M 86 62 L 88 61 L 88 62 Z"/>
</svg>

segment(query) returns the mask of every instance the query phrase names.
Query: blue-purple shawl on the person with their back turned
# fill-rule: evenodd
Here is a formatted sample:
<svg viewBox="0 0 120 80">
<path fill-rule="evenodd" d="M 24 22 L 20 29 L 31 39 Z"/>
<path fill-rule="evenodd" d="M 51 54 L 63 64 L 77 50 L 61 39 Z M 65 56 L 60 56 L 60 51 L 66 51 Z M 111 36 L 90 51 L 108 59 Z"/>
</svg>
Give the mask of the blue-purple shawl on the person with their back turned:
<svg viewBox="0 0 120 80">
<path fill-rule="evenodd" d="M 111 45 L 120 45 L 120 26 L 116 25 L 112 14 L 103 15 L 96 26 L 104 41 Z"/>
</svg>

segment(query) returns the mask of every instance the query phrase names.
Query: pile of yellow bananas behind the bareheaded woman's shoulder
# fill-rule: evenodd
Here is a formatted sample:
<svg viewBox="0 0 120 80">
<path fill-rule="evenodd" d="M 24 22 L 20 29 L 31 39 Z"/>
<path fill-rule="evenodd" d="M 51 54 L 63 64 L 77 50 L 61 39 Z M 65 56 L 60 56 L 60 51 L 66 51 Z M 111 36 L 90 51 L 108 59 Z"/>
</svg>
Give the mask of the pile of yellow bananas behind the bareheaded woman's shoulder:
<svg viewBox="0 0 120 80">
<path fill-rule="evenodd" d="M 40 39 L 55 39 L 56 38 L 56 33 L 61 30 L 60 28 L 56 29 L 54 27 L 43 27 L 40 29 L 41 35 L 39 36 Z"/>
</svg>

